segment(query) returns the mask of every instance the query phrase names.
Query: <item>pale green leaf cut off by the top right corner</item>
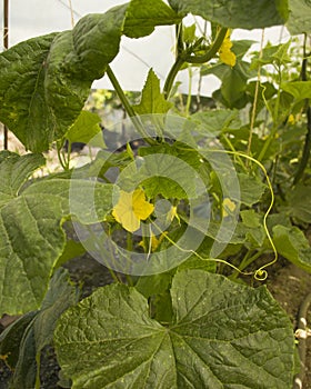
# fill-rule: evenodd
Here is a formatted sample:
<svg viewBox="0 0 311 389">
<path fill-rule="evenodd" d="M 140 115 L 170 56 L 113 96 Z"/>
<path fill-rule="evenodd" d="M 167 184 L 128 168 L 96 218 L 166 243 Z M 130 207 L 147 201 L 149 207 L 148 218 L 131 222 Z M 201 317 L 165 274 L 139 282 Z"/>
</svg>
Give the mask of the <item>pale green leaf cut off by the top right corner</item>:
<svg viewBox="0 0 311 389">
<path fill-rule="evenodd" d="M 308 0 L 289 0 L 290 17 L 287 28 L 291 34 L 311 32 L 311 3 Z"/>
</svg>

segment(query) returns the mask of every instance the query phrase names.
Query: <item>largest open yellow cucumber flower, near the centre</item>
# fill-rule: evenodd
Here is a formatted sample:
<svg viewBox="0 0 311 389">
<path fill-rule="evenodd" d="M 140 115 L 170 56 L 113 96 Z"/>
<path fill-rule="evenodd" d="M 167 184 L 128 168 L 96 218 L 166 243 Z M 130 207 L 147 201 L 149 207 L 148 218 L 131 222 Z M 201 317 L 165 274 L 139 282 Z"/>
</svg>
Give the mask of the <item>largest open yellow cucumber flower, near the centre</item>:
<svg viewBox="0 0 311 389">
<path fill-rule="evenodd" d="M 112 216 L 127 231 L 134 232 L 140 228 L 140 220 L 146 220 L 153 210 L 154 206 L 146 201 L 142 189 L 132 192 L 120 190 L 120 198 L 112 210 Z"/>
</svg>

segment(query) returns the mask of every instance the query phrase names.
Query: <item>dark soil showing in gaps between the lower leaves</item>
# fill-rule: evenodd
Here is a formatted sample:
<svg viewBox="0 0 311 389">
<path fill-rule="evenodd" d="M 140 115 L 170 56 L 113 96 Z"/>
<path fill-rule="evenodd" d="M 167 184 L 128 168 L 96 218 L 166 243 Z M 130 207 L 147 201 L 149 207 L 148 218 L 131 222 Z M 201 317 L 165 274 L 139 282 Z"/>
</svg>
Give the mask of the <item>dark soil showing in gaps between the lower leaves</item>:
<svg viewBox="0 0 311 389">
<path fill-rule="evenodd" d="M 82 297 L 87 297 L 94 289 L 112 282 L 108 269 L 90 256 L 86 255 L 69 262 L 67 266 L 71 277 L 77 282 L 83 282 Z M 280 261 L 274 272 L 269 275 L 267 286 L 273 297 L 289 315 L 293 331 L 297 328 L 299 307 L 311 290 L 311 277 L 309 273 L 298 269 L 287 261 Z M 311 322 L 311 309 L 309 310 L 308 322 Z M 59 366 L 52 347 L 48 347 L 42 353 L 41 388 L 58 389 Z M 0 389 L 9 389 L 8 381 L 11 373 L 4 362 L 0 360 Z M 32 389 L 32 388 L 29 388 Z M 307 369 L 303 389 L 311 389 L 311 338 L 308 339 Z"/>
</svg>

